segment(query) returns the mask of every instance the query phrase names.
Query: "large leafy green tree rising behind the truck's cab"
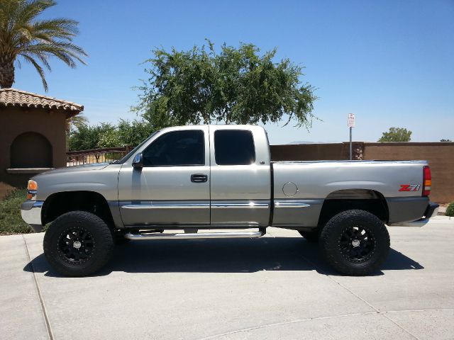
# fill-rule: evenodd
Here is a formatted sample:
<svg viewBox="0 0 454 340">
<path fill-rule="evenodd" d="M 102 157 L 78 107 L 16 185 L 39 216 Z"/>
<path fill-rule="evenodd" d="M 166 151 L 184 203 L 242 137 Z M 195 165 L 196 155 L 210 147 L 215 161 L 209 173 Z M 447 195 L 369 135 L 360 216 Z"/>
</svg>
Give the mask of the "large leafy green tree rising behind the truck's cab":
<svg viewBox="0 0 454 340">
<path fill-rule="evenodd" d="M 289 59 L 274 62 L 276 49 L 260 54 L 253 44 L 223 44 L 167 52 L 146 60 L 148 81 L 140 86 L 135 111 L 153 125 L 199 123 L 287 123 L 311 126 L 314 88 L 301 84 L 301 67 Z M 287 124 L 286 123 L 286 124 Z"/>
</svg>

